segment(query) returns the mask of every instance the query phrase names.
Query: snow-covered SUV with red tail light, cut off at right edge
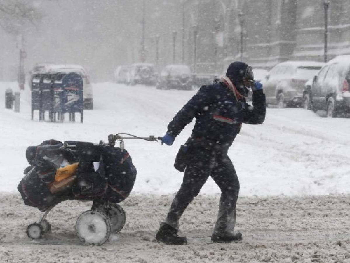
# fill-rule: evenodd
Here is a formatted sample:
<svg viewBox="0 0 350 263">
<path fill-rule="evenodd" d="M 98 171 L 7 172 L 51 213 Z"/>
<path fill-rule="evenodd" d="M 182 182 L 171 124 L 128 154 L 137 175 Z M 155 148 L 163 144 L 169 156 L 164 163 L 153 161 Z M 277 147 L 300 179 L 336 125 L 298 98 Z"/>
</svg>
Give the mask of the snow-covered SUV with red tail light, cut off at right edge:
<svg viewBox="0 0 350 263">
<path fill-rule="evenodd" d="M 350 55 L 337 56 L 305 84 L 304 109 L 327 111 L 327 117 L 350 113 L 349 84 Z"/>
</svg>

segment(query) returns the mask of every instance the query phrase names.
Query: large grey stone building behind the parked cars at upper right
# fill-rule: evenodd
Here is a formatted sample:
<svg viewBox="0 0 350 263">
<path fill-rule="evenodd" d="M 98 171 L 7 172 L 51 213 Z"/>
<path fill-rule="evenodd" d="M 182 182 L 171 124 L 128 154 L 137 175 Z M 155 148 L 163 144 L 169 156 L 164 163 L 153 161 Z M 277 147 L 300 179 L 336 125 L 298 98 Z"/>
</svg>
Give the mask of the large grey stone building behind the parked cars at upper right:
<svg viewBox="0 0 350 263">
<path fill-rule="evenodd" d="M 265 69 L 286 60 L 324 61 L 324 0 L 187 0 L 185 18 L 187 63 L 198 73 L 221 74 L 241 57 Z M 330 1 L 327 44 L 328 60 L 350 54 L 348 0 Z"/>
</svg>

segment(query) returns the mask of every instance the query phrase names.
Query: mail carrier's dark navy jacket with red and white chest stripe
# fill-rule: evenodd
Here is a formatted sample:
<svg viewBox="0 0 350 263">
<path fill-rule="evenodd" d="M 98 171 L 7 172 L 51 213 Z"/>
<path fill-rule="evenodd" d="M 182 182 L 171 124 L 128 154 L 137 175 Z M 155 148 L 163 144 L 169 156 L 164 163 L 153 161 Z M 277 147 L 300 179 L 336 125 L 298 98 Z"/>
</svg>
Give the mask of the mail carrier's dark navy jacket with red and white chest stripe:
<svg viewBox="0 0 350 263">
<path fill-rule="evenodd" d="M 245 99 L 237 101 L 223 84 L 202 86 L 168 125 L 168 134 L 176 137 L 196 118 L 192 136 L 204 137 L 220 144 L 231 145 L 242 123 L 261 124 L 266 115 L 266 98 L 262 90 L 253 92 L 253 107 Z"/>
</svg>

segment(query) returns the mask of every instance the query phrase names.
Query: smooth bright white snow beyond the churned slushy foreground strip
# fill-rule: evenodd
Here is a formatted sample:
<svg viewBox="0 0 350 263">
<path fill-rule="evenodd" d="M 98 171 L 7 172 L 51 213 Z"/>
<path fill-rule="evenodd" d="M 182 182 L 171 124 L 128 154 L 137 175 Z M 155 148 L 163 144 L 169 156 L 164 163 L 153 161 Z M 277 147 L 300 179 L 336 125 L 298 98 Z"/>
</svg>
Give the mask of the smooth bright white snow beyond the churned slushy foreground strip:
<svg viewBox="0 0 350 263">
<path fill-rule="evenodd" d="M 197 91 L 97 83 L 93 85 L 94 110 L 84 111 L 84 123 L 50 123 L 39 122 L 37 112 L 34 121 L 30 120 L 28 87 L 21 92 L 21 112 L 6 110 L 8 87 L 18 89 L 16 83 L 0 83 L 0 191 L 6 192 L 16 192 L 27 166 L 29 145 L 45 139 L 98 143 L 118 132 L 163 136 L 175 113 Z M 166 194 L 179 189 L 182 173 L 173 163 L 193 124 L 170 147 L 125 141 L 138 170 L 135 193 Z M 303 109 L 268 108 L 264 124 L 243 124 L 229 150 L 240 179 L 240 195 L 350 193 L 349 132 L 350 119 L 322 118 Z M 201 193 L 218 192 L 209 179 Z"/>
</svg>

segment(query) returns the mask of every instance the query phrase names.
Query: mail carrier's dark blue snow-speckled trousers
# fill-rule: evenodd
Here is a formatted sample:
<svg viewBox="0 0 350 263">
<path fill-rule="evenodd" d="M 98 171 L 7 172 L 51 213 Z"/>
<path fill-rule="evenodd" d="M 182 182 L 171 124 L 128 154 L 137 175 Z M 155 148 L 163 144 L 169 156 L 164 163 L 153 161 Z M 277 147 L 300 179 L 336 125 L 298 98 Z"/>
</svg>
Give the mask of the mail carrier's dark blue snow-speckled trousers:
<svg viewBox="0 0 350 263">
<path fill-rule="evenodd" d="M 199 194 L 204 183 L 211 176 L 222 192 L 214 233 L 233 234 L 239 193 L 239 181 L 235 167 L 226 153 L 195 148 L 191 150 L 190 155 L 183 183 L 173 200 L 165 223 L 176 229 L 179 228 L 179 220 L 186 207 Z"/>
</svg>

